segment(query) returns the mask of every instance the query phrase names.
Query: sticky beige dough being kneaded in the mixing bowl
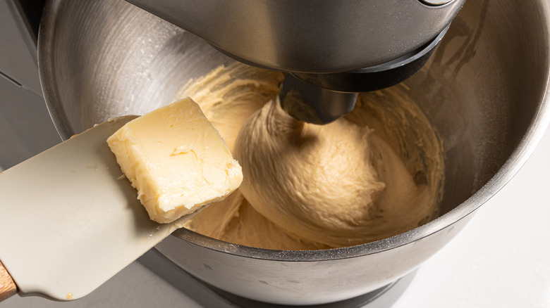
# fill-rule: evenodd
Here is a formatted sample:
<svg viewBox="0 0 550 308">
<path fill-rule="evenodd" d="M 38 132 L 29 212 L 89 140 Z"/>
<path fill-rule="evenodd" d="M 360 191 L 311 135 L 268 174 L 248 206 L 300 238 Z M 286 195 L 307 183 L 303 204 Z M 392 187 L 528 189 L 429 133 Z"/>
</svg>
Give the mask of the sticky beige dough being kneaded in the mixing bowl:
<svg viewBox="0 0 550 308">
<path fill-rule="evenodd" d="M 199 103 L 244 173 L 239 191 L 197 214 L 189 229 L 309 250 L 387 238 L 436 217 L 441 141 L 405 86 L 361 94 L 350 115 L 317 126 L 281 110 L 282 79 L 238 63 L 184 86 L 181 97 Z"/>
</svg>

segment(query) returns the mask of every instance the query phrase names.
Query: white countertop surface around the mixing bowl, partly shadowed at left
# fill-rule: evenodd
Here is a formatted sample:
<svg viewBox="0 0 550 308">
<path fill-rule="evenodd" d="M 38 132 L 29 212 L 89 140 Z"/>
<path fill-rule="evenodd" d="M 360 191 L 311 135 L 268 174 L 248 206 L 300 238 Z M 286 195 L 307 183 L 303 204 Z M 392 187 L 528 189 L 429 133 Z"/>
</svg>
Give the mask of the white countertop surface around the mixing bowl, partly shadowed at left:
<svg viewBox="0 0 550 308">
<path fill-rule="evenodd" d="M 520 172 L 420 267 L 393 307 L 550 307 L 549 222 L 546 131 Z M 230 307 L 174 273 L 172 264 L 147 253 L 82 300 L 14 296 L 0 307 Z"/>
</svg>

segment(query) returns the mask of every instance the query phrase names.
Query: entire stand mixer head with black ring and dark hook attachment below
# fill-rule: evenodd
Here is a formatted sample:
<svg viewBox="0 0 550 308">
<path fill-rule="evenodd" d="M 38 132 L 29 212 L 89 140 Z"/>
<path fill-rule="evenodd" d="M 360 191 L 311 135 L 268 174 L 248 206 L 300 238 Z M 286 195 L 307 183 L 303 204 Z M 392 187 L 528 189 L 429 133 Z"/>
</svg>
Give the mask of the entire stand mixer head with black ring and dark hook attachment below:
<svg viewBox="0 0 550 308">
<path fill-rule="evenodd" d="M 289 72 L 287 113 L 327 124 L 420 70 L 465 0 L 127 0 L 240 62 Z M 291 94 L 290 96 L 288 94 Z"/>
</svg>

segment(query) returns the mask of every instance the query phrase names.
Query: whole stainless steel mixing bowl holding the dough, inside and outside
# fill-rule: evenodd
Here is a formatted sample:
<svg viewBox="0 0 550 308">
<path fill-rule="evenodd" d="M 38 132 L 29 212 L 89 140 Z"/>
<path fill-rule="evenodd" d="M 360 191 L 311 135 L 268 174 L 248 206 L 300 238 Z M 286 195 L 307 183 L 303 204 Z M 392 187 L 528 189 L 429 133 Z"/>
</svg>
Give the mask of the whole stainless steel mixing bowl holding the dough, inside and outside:
<svg viewBox="0 0 550 308">
<path fill-rule="evenodd" d="M 467 1 L 408 95 L 444 139 L 441 216 L 374 243 L 276 251 L 181 229 L 157 249 L 222 290 L 283 304 L 343 300 L 417 268 L 523 165 L 550 119 L 546 0 Z M 169 103 L 190 78 L 233 60 L 123 0 L 49 1 L 39 72 L 63 138 Z M 490 222 L 488 222 L 490 223 Z"/>
</svg>

